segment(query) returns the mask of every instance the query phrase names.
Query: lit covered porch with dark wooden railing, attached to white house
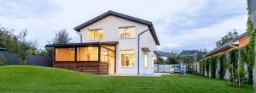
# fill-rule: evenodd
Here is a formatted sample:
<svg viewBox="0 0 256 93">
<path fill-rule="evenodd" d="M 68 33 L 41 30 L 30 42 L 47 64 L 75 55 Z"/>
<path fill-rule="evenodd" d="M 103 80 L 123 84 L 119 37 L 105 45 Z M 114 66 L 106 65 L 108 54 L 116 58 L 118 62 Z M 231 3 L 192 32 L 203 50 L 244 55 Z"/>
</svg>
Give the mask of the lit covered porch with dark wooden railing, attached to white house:
<svg viewBox="0 0 256 93">
<path fill-rule="evenodd" d="M 53 44 L 54 68 L 67 68 L 90 74 L 116 73 L 116 45 L 118 42 L 90 42 Z"/>
</svg>

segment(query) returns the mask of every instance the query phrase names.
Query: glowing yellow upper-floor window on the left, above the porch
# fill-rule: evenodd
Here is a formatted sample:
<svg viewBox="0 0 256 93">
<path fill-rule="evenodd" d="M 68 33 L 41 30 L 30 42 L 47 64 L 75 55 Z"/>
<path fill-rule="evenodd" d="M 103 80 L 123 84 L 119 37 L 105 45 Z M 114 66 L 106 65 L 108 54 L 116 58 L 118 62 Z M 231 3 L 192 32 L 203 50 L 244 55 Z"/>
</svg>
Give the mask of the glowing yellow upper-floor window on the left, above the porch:
<svg viewBox="0 0 256 93">
<path fill-rule="evenodd" d="M 89 30 L 88 31 L 88 39 L 89 40 L 102 40 L 103 38 L 103 30 Z"/>
</svg>

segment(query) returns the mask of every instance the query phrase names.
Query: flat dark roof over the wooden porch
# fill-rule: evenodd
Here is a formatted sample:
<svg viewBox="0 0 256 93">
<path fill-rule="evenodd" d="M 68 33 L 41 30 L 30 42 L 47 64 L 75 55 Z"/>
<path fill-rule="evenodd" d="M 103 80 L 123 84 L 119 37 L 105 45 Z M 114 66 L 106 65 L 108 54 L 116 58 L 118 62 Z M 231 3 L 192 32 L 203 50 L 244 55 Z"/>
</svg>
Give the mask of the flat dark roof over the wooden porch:
<svg viewBox="0 0 256 93">
<path fill-rule="evenodd" d="M 88 43 L 67 43 L 67 44 L 48 44 L 45 47 L 89 47 L 89 46 L 100 46 L 100 45 L 113 45 L 118 44 L 118 41 L 108 42 L 88 42 Z"/>
</svg>

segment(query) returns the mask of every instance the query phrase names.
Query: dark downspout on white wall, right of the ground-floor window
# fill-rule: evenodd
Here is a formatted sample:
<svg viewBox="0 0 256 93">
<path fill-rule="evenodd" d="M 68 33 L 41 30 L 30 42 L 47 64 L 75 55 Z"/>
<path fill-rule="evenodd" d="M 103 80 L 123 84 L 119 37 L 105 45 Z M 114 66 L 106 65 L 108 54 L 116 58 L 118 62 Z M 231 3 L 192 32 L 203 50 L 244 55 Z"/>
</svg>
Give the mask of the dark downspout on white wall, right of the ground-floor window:
<svg viewBox="0 0 256 93">
<path fill-rule="evenodd" d="M 144 30 L 143 32 L 139 33 L 137 35 L 137 74 L 140 74 L 140 36 L 147 32 L 148 30 L 150 30 L 150 28 L 152 27 L 152 25 L 150 25 L 150 27 L 147 30 Z"/>
</svg>

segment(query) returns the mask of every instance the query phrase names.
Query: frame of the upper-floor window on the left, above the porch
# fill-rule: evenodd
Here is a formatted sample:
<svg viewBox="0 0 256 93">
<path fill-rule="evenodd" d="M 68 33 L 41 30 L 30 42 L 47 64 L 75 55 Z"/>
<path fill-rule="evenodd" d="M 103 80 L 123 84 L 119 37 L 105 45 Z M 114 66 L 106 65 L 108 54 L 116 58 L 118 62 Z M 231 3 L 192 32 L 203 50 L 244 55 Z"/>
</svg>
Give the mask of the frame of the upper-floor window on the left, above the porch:
<svg viewBox="0 0 256 93">
<path fill-rule="evenodd" d="M 99 34 L 100 30 L 102 30 L 102 39 L 103 39 L 103 29 L 88 29 L 88 33 L 87 33 L 88 34 L 88 38 L 87 38 L 87 40 L 88 41 L 100 41 L 100 40 L 102 40 L 100 38 L 100 34 Z M 93 32 L 93 39 L 90 39 L 90 31 Z M 98 33 L 98 35 L 97 35 L 98 38 L 95 38 L 96 37 L 96 31 Z"/>
</svg>

